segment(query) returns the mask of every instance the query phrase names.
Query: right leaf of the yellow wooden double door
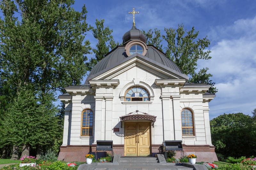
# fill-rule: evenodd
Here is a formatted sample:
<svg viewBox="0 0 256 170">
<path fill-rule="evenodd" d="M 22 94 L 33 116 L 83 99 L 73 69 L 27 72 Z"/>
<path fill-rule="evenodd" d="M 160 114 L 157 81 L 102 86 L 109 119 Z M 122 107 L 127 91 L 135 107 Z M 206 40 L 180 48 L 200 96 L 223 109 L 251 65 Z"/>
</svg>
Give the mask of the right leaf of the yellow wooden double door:
<svg viewBox="0 0 256 170">
<path fill-rule="evenodd" d="M 138 156 L 150 156 L 150 124 L 138 123 Z"/>
</svg>

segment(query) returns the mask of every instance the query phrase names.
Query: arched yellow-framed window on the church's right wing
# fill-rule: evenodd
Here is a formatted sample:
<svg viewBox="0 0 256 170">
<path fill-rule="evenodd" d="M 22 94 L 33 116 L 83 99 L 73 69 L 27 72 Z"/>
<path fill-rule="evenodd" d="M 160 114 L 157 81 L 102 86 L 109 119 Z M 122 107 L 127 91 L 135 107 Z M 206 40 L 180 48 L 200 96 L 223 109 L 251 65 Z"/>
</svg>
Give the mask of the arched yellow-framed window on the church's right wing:
<svg viewBox="0 0 256 170">
<path fill-rule="evenodd" d="M 193 113 L 189 109 L 183 109 L 181 111 L 181 128 L 182 135 L 194 135 Z"/>
</svg>

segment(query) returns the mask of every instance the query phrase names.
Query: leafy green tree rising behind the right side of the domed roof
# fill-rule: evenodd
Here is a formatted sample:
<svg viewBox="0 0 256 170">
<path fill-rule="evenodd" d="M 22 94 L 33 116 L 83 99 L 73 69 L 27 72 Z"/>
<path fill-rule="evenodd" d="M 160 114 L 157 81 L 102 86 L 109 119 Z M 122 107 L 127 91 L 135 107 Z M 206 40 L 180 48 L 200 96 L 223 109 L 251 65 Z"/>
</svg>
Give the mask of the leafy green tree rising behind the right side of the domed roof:
<svg viewBox="0 0 256 170">
<path fill-rule="evenodd" d="M 164 47 L 166 57 L 177 64 L 184 74 L 189 75 L 190 79 L 188 82 L 209 84 L 212 87 L 208 92 L 216 93 L 218 89 L 214 87 L 215 83 L 210 80 L 212 74 L 207 73 L 209 68 L 203 68 L 196 73 L 198 60 L 209 60 L 212 58 L 210 56 L 211 51 L 206 50 L 210 45 L 209 39 L 207 37 L 198 38 L 199 31 L 196 31 L 194 27 L 187 31 L 184 29 L 184 25 L 178 25 L 177 29 L 164 28 L 164 31 L 165 35 L 161 36 L 160 30 L 156 28 L 154 32 L 151 29 L 148 32 L 143 30 L 147 37 L 146 43 L 162 50 L 161 38 L 163 38 L 167 42 L 167 46 Z"/>
</svg>

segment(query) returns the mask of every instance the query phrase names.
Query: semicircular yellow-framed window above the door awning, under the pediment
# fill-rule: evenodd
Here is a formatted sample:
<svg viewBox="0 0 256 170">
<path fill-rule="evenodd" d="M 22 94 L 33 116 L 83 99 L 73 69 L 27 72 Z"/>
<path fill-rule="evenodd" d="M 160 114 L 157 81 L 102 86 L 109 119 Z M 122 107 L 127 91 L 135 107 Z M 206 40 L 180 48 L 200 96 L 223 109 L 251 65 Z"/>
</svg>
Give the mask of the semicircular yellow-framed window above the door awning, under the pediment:
<svg viewBox="0 0 256 170">
<path fill-rule="evenodd" d="M 132 87 L 125 93 L 125 101 L 149 101 L 148 92 L 141 87 Z"/>
</svg>

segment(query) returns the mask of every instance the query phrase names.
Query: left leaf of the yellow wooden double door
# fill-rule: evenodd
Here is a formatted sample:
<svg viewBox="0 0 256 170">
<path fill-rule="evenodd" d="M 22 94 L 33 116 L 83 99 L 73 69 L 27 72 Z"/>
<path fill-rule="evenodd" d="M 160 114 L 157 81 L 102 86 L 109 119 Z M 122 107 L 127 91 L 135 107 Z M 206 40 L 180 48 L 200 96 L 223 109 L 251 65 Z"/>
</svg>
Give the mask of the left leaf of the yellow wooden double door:
<svg viewBox="0 0 256 170">
<path fill-rule="evenodd" d="M 124 155 L 137 156 L 137 124 L 125 124 Z"/>
</svg>

